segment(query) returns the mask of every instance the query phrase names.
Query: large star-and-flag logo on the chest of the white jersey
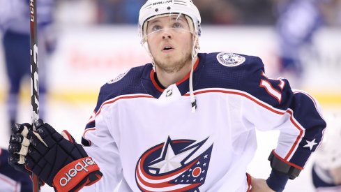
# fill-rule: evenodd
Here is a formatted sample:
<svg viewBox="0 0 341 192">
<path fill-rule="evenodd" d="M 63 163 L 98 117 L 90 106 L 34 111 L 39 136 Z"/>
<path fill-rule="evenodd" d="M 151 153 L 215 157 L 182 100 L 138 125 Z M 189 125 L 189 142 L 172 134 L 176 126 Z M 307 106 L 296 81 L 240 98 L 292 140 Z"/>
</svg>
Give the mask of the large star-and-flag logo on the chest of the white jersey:
<svg viewBox="0 0 341 192">
<path fill-rule="evenodd" d="M 204 184 L 213 143 L 172 140 L 160 143 L 142 154 L 135 179 L 141 191 L 197 191 Z"/>
</svg>

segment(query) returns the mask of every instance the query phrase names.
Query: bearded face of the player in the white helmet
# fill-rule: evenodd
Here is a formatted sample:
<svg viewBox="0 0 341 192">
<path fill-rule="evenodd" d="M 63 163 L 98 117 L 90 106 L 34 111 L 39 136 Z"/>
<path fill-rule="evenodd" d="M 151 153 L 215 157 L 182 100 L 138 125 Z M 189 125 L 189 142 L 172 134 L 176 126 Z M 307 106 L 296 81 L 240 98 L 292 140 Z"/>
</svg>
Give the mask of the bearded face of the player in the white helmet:
<svg viewBox="0 0 341 192">
<path fill-rule="evenodd" d="M 148 22 L 146 34 L 156 70 L 174 73 L 191 63 L 193 36 L 185 16 L 156 17 Z"/>
</svg>

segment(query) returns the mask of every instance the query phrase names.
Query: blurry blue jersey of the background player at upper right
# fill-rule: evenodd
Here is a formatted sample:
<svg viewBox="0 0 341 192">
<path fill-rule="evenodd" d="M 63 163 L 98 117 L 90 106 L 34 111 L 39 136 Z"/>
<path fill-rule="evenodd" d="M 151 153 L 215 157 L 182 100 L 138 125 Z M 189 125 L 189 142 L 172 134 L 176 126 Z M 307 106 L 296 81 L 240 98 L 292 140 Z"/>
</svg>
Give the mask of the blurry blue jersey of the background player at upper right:
<svg viewBox="0 0 341 192">
<path fill-rule="evenodd" d="M 321 0 L 290 0 L 280 3 L 277 31 L 282 57 L 298 59 L 304 45 L 312 43 L 315 32 L 324 23 Z"/>
</svg>

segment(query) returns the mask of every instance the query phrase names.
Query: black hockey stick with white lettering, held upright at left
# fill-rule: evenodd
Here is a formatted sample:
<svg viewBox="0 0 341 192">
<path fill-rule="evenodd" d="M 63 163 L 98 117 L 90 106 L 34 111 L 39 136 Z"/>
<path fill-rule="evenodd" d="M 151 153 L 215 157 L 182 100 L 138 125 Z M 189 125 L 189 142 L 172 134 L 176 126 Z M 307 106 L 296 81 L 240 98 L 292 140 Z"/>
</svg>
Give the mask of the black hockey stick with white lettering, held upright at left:
<svg viewBox="0 0 341 192">
<path fill-rule="evenodd" d="M 37 3 L 29 1 L 30 13 L 30 52 L 31 52 L 31 106 L 32 127 L 36 130 L 33 121 L 39 119 L 39 89 L 38 89 L 38 37 L 37 37 Z M 40 191 L 39 178 L 32 173 L 33 192 Z"/>
</svg>

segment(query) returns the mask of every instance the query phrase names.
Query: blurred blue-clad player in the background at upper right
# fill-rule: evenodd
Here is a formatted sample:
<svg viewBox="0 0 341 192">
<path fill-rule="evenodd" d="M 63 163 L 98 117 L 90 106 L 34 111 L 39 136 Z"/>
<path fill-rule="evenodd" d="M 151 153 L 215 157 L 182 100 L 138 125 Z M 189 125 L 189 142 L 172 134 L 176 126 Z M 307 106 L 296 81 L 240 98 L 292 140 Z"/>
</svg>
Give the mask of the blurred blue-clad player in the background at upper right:
<svg viewBox="0 0 341 192">
<path fill-rule="evenodd" d="M 278 2 L 277 33 L 280 73 L 300 86 L 303 51 L 310 52 L 313 38 L 324 23 L 320 6 L 324 0 L 289 0 Z"/>
</svg>

